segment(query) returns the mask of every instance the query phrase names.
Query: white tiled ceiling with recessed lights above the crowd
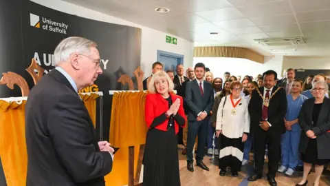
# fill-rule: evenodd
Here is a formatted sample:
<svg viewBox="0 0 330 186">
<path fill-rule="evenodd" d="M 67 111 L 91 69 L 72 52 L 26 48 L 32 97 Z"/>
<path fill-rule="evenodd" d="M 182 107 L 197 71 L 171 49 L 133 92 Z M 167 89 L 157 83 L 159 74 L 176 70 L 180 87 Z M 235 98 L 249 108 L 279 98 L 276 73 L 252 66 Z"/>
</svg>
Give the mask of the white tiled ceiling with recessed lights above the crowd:
<svg viewBox="0 0 330 186">
<path fill-rule="evenodd" d="M 328 56 L 330 50 L 330 0 L 63 1 L 194 41 L 196 46 L 241 46 L 288 56 Z M 155 12 L 157 7 L 170 12 Z M 306 44 L 267 48 L 254 41 L 279 37 L 303 37 Z"/>
</svg>

